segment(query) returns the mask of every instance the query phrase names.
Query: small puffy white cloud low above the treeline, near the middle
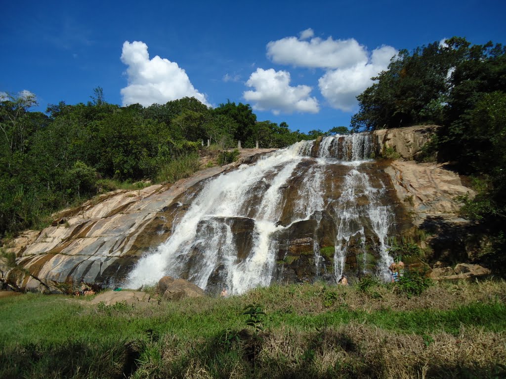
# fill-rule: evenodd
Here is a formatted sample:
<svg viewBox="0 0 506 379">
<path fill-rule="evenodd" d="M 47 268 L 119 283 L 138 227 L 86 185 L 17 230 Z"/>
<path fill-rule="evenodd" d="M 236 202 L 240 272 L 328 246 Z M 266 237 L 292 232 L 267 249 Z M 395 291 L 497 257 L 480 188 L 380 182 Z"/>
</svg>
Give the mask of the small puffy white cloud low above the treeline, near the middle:
<svg viewBox="0 0 506 379">
<path fill-rule="evenodd" d="M 310 97 L 312 88 L 308 85 L 290 86 L 290 74 L 287 71 L 264 70 L 258 68 L 246 82 L 248 90 L 243 93 L 246 101 L 254 103 L 255 110 L 271 110 L 275 115 L 284 113 L 318 113 L 318 101 Z"/>
</svg>

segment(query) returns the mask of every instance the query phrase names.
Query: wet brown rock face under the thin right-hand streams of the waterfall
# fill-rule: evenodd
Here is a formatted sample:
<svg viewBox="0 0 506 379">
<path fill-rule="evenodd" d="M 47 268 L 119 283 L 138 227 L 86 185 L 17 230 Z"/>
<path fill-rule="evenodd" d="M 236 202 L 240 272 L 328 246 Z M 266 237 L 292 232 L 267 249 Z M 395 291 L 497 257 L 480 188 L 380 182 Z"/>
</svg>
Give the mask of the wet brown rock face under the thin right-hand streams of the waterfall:
<svg viewBox="0 0 506 379">
<path fill-rule="evenodd" d="M 301 204 L 301 199 L 303 202 L 308 199 L 304 198 L 300 189 L 304 187 L 304 180 L 315 175 L 314 162 L 301 162 L 297 174 L 283 188 L 284 206 L 279 223 L 286 229 L 276 236 L 279 241 L 275 274 L 278 282 L 335 281 L 335 259 L 340 250 L 346 251 L 345 275 L 376 273 L 381 252 L 378 236 L 369 219 L 371 207 L 389 207 L 393 214 L 389 235 L 402 233 L 410 226 L 403 205 L 384 172 L 387 165 L 384 161 L 361 165 L 358 170 L 367 174 L 370 187 L 366 188 L 364 182 L 357 182 L 353 194 L 346 193 L 350 188 L 346 188 L 345 181 L 355 168 L 342 164 L 327 166 L 324 174 L 318 177 L 320 188 L 314 188 L 315 192 L 319 189 L 320 200 L 326 210 L 315 211 L 308 220 L 293 222 L 305 217 L 302 210 L 307 210 L 308 205 Z M 360 172 L 354 175 L 363 179 Z M 370 188 L 378 189 L 382 192 L 381 196 L 371 198 L 367 194 Z M 318 199 L 311 201 L 318 202 Z M 371 204 L 377 201 L 378 204 Z M 353 216 L 346 213 L 353 213 Z"/>
</svg>

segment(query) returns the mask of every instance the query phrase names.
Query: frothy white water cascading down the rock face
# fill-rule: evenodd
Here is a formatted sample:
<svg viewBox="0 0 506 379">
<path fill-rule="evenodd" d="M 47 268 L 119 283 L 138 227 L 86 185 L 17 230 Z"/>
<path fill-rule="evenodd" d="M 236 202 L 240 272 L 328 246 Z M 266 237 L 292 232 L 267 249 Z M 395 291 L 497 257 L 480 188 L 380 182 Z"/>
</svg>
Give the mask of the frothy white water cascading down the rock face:
<svg viewBox="0 0 506 379">
<path fill-rule="evenodd" d="M 377 200 L 376 195 L 382 189 L 373 188 L 367 174 L 360 171 L 361 165 L 367 164 L 364 158 L 370 154 L 370 135 L 324 137 L 316 152 L 313 146 L 314 141 L 302 141 L 272 153 L 256 164 L 242 165 L 209 179 L 185 215 L 177 221 L 170 238 L 138 261 L 126 286 L 151 285 L 164 275 L 187 277 L 204 289 L 211 277 L 218 276 L 232 294 L 268 286 L 273 280 L 280 243 L 276 235 L 310 217 L 319 225 L 322 211 L 330 212 L 336 223 L 336 278 L 344 270 L 350 238 L 358 234 L 365 241 L 364 217 L 379 240 L 382 262 L 378 271 L 388 272 L 389 209 Z M 308 158 L 311 155 L 317 158 Z M 304 179 L 297 188 L 297 200 L 293 202 L 289 220 L 281 224 L 286 203 L 283 188 L 303 161 L 309 168 L 305 169 Z M 324 193 L 322 182 L 328 167 L 342 164 L 349 171 L 340 188 L 341 196 L 333 199 Z M 367 199 L 367 207 L 354 204 L 360 196 Z M 237 241 L 234 235 L 237 225 L 248 225 L 250 229 L 251 243 L 241 259 L 237 255 L 241 241 Z M 313 251 L 318 271 L 322 257 L 317 242 L 313 243 Z"/>
</svg>

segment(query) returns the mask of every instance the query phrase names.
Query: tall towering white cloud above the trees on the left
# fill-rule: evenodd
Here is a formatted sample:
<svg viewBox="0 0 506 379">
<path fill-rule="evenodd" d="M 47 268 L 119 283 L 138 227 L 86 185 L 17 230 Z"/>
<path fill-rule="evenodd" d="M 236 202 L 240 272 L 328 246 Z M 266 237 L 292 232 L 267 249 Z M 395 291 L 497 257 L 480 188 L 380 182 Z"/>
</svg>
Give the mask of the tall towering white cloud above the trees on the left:
<svg viewBox="0 0 506 379">
<path fill-rule="evenodd" d="M 149 59 L 148 46 L 142 41 L 125 41 L 121 62 L 128 66 L 128 86 L 121 89 L 123 106 L 139 103 L 147 107 L 186 96 L 209 105 L 204 94 L 193 87 L 184 69 L 159 56 Z"/>
</svg>

